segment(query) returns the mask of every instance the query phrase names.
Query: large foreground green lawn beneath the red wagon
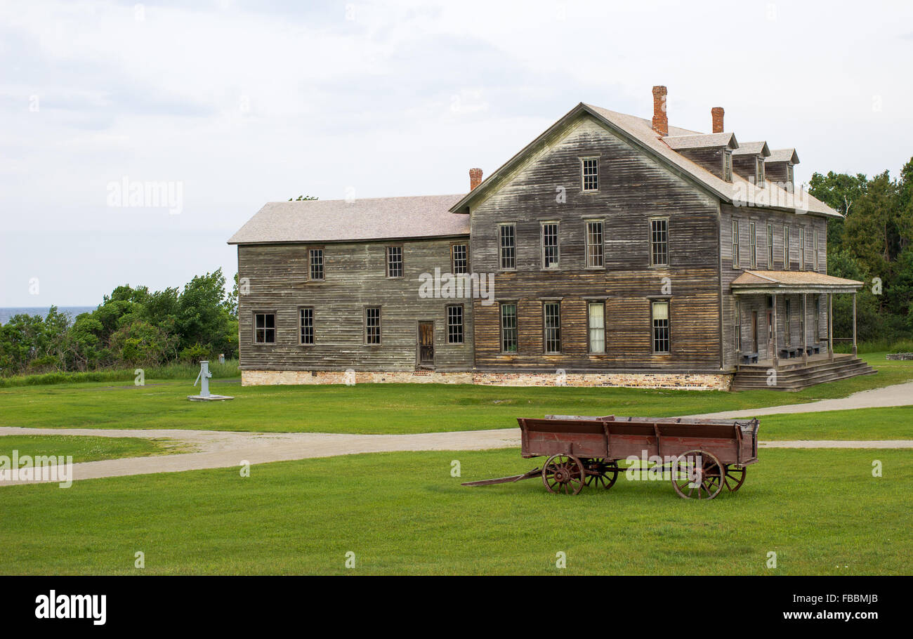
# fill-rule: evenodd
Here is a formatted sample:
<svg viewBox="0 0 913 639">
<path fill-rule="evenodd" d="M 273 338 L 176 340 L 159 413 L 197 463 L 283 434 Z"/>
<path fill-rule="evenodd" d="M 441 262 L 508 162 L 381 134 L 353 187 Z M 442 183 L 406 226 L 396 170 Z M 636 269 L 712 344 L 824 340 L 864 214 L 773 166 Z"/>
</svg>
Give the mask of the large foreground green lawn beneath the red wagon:
<svg viewBox="0 0 913 639">
<path fill-rule="evenodd" d="M 463 477 L 450 476 L 453 459 Z M 875 459 L 883 477 L 872 477 Z M 701 502 L 677 498 L 667 481 L 624 478 L 576 497 L 538 479 L 459 486 L 535 461 L 515 450 L 391 453 L 254 466 L 251 477 L 232 468 L 0 488 L 0 572 L 913 571 L 908 451 L 765 450 L 740 492 Z"/>
</svg>

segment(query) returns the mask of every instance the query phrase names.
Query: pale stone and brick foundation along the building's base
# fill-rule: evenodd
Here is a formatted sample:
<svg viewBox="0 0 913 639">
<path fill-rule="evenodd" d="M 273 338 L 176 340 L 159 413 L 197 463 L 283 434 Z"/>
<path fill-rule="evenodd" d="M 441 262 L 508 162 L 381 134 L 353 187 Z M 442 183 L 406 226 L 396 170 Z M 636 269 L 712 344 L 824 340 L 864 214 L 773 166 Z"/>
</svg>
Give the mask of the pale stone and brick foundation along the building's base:
<svg viewBox="0 0 913 639">
<path fill-rule="evenodd" d="M 343 372 L 242 371 L 244 386 L 278 384 L 467 383 L 485 386 L 623 386 L 688 391 L 729 391 L 727 373 L 672 372 Z"/>
</svg>

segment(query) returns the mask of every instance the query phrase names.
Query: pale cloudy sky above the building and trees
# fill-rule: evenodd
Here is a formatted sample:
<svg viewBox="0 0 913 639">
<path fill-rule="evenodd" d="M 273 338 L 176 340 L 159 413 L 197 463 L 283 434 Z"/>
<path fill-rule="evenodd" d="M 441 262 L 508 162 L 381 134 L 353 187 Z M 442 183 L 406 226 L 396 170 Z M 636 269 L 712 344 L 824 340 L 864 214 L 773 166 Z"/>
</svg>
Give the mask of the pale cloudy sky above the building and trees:
<svg viewBox="0 0 913 639">
<path fill-rule="evenodd" d="M 913 156 L 913 3 L 0 0 L 0 307 L 221 267 L 266 202 L 461 194 L 578 102 Z M 148 187 L 148 188 L 147 188 Z"/>
</svg>

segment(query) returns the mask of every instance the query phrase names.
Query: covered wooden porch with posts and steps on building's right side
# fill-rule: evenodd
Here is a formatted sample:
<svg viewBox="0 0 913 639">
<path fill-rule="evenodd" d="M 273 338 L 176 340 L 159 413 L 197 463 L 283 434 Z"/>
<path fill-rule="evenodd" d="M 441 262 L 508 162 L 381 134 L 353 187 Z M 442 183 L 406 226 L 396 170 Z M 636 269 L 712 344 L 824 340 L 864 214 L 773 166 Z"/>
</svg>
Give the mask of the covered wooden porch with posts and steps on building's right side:
<svg viewBox="0 0 913 639">
<path fill-rule="evenodd" d="M 760 386 L 749 382 L 763 376 L 765 386 L 794 390 L 873 372 L 856 357 L 855 295 L 862 282 L 813 271 L 747 270 L 731 287 L 736 318 L 734 386 Z M 853 334 L 848 338 L 852 354 L 835 354 L 834 295 L 845 294 L 853 296 Z"/>
</svg>

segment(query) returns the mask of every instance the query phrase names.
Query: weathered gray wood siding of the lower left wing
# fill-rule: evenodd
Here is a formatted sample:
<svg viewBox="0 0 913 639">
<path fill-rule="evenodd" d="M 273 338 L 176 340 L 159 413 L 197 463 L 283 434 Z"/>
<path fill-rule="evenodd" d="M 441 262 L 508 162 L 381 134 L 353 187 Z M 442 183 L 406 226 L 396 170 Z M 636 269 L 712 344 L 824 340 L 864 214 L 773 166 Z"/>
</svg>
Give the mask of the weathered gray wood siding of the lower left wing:
<svg viewBox="0 0 913 639">
<path fill-rule="evenodd" d="M 450 245 L 468 237 L 323 246 L 324 280 L 309 281 L 313 245 L 238 246 L 238 276 L 249 293 L 239 296 L 242 370 L 415 371 L 418 322 L 435 322 L 435 369 L 467 371 L 473 361 L 469 299 L 421 299 L 423 273 L 450 272 Z M 404 277 L 386 277 L 386 246 L 403 246 Z M 463 305 L 463 344 L 447 343 L 446 307 Z M 314 308 L 315 344 L 299 343 L 299 308 Z M 366 345 L 364 308 L 381 307 L 380 346 Z M 277 339 L 253 343 L 253 316 L 275 312 Z"/>
</svg>

